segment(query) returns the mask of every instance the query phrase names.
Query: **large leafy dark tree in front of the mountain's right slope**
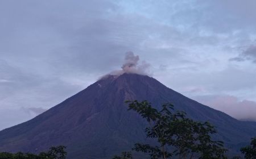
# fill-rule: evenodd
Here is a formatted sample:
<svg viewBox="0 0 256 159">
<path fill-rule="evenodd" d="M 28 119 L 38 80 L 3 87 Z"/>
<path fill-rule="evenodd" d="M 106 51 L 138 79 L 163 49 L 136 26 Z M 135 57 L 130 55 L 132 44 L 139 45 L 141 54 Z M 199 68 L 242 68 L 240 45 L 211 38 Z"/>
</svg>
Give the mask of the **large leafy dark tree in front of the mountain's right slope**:
<svg viewBox="0 0 256 159">
<path fill-rule="evenodd" d="M 156 139 L 158 145 L 135 144 L 133 150 L 150 155 L 151 158 L 226 158 L 222 141 L 212 140 L 216 133 L 208 122 L 195 122 L 186 118 L 185 112 L 175 111 L 172 104 L 163 104 L 156 110 L 147 101 L 127 101 L 128 110 L 138 112 L 150 127 L 145 129 L 148 138 Z"/>
</svg>

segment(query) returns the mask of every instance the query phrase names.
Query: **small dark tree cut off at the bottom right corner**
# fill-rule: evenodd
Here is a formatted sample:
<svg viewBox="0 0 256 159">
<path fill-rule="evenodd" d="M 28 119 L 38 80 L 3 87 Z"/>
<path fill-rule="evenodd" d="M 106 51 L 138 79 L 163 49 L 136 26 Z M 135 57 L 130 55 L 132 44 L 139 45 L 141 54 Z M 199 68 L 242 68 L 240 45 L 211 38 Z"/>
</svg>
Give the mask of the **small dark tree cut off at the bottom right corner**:
<svg viewBox="0 0 256 159">
<path fill-rule="evenodd" d="M 256 137 L 251 138 L 251 143 L 247 147 L 241 148 L 246 159 L 256 159 Z"/>
</svg>

